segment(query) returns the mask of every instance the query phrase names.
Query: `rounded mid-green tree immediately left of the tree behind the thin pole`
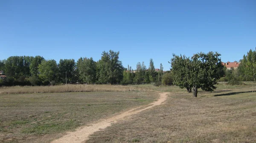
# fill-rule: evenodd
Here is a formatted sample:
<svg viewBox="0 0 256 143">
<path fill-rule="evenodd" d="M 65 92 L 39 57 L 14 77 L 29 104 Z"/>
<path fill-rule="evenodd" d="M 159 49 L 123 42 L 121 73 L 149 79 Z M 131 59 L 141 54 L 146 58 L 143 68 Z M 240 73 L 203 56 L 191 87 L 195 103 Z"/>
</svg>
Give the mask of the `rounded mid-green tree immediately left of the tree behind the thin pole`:
<svg viewBox="0 0 256 143">
<path fill-rule="evenodd" d="M 42 80 L 47 80 L 49 82 L 55 82 L 56 79 L 58 79 L 58 65 L 55 60 L 44 60 L 41 64 L 38 66 L 39 71 L 39 77 Z"/>
</svg>

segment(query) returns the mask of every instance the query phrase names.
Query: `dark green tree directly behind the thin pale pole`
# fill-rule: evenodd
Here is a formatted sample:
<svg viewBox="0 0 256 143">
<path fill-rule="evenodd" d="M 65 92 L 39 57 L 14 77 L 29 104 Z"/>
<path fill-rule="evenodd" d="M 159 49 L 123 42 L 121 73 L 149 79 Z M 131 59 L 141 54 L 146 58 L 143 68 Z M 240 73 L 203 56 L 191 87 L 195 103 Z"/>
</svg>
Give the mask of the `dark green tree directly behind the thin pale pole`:
<svg viewBox="0 0 256 143">
<path fill-rule="evenodd" d="M 67 73 L 67 83 L 74 82 L 74 72 L 76 68 L 76 63 L 74 59 L 61 59 L 59 64 L 59 78 L 62 83 L 66 83 L 66 73 Z"/>
</svg>

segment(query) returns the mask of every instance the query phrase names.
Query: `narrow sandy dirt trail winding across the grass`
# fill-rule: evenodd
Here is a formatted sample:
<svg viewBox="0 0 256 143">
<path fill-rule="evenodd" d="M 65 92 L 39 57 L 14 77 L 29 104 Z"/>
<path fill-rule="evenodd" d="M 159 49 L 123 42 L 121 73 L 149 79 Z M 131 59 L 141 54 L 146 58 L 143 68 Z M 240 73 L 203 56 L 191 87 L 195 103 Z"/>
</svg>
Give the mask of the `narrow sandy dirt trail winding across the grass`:
<svg viewBox="0 0 256 143">
<path fill-rule="evenodd" d="M 89 139 L 89 135 L 93 134 L 94 132 L 97 132 L 99 130 L 105 129 L 108 126 L 111 126 L 112 123 L 116 123 L 118 120 L 123 119 L 126 116 L 130 116 L 132 114 L 139 113 L 141 111 L 144 111 L 146 109 L 152 108 L 154 106 L 160 105 L 163 103 L 163 101 L 166 100 L 168 92 L 160 93 L 160 98 L 149 104 L 151 106 L 145 107 L 143 109 L 143 106 L 131 109 L 129 111 L 123 112 L 122 114 L 113 116 L 111 118 L 105 119 L 100 121 L 99 123 L 91 124 L 90 126 L 83 126 L 80 129 L 77 129 L 75 132 L 68 132 L 67 135 L 64 135 L 63 137 L 53 140 L 52 143 L 82 143 Z M 136 110 L 138 109 L 138 110 Z"/>
</svg>

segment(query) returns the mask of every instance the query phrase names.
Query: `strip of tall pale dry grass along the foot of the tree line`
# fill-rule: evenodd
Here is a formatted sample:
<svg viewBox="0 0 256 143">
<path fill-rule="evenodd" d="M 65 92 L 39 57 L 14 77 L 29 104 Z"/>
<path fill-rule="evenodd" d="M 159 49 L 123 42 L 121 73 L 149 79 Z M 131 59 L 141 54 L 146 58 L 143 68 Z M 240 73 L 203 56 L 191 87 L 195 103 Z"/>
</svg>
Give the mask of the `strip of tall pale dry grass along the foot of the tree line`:
<svg viewBox="0 0 256 143">
<path fill-rule="evenodd" d="M 111 85 L 11 86 L 0 87 L 0 94 L 58 93 L 58 92 L 127 92 L 149 91 L 146 87 Z"/>
</svg>

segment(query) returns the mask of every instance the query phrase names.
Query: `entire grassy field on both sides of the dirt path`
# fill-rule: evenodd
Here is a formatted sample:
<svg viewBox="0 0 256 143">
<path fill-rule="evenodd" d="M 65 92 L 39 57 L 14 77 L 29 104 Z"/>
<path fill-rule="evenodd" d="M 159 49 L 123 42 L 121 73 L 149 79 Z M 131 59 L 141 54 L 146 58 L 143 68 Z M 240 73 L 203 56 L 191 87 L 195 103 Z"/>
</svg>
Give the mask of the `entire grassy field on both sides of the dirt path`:
<svg viewBox="0 0 256 143">
<path fill-rule="evenodd" d="M 177 86 L 153 85 L 119 91 L 108 86 L 108 92 L 2 93 L 0 142 L 49 143 L 78 126 L 153 102 L 155 90 L 170 92 L 165 104 L 95 132 L 87 143 L 255 143 L 256 93 L 250 85 L 217 86 L 214 92 L 199 90 L 197 98 Z"/>
</svg>

